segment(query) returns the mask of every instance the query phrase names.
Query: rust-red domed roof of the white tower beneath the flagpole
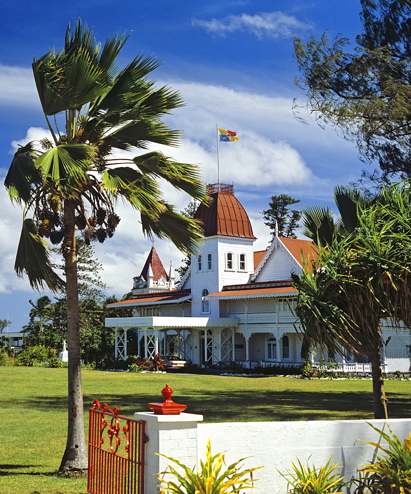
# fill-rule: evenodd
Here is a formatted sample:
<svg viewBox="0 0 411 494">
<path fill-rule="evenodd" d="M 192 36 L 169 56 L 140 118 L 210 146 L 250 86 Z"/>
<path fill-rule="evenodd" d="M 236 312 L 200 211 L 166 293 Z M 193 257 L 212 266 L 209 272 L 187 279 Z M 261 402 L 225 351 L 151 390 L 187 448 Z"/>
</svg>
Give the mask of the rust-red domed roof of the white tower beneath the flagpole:
<svg viewBox="0 0 411 494">
<path fill-rule="evenodd" d="M 232 186 L 223 187 L 224 185 L 218 184 L 217 189 L 208 188 L 209 191 L 217 192 L 209 193 L 210 204 L 200 204 L 194 215 L 195 219 L 202 221 L 204 236 L 224 235 L 255 239 L 246 210 L 232 192 Z"/>
</svg>

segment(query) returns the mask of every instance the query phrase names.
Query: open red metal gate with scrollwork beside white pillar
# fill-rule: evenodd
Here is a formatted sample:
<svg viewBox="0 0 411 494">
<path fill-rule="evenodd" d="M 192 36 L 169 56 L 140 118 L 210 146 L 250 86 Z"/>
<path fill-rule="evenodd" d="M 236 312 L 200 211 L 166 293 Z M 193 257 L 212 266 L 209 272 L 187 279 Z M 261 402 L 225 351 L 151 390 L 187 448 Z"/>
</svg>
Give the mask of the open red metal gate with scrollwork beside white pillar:
<svg viewBox="0 0 411 494">
<path fill-rule="evenodd" d="M 121 423 L 124 424 L 121 426 Z M 94 400 L 88 432 L 88 484 L 91 494 L 144 494 L 145 422 L 119 415 Z"/>
</svg>

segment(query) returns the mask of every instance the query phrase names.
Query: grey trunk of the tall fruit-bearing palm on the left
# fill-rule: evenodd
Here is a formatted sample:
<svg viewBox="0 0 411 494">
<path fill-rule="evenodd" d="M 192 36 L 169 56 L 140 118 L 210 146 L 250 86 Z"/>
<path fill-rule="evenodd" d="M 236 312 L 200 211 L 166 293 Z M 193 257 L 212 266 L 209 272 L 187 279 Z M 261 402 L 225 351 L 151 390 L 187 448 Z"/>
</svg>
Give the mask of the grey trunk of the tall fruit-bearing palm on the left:
<svg viewBox="0 0 411 494">
<path fill-rule="evenodd" d="M 67 444 L 59 471 L 87 469 L 84 439 L 82 372 L 80 360 L 79 287 L 75 237 L 75 204 L 64 201 L 63 256 L 66 270 L 68 363 L 68 432 Z"/>
</svg>

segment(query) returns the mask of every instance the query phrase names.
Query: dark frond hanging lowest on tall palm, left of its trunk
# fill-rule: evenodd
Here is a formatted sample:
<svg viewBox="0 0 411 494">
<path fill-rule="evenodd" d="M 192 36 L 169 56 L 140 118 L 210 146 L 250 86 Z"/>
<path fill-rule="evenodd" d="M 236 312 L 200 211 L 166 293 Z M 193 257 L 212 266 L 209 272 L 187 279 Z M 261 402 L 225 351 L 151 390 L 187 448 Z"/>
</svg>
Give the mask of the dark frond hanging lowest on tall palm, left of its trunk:
<svg viewBox="0 0 411 494">
<path fill-rule="evenodd" d="M 14 269 L 20 278 L 27 274 L 32 288 L 48 288 L 54 294 L 60 294 L 65 283 L 53 271 L 46 246 L 34 221 L 24 219 Z"/>
</svg>

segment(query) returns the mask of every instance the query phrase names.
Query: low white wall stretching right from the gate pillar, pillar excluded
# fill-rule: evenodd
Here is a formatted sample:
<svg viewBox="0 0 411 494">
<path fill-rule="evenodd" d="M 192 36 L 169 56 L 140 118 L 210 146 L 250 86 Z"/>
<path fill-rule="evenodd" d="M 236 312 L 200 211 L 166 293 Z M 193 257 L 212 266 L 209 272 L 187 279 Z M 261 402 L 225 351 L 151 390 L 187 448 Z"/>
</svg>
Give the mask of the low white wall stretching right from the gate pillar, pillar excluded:
<svg viewBox="0 0 411 494">
<path fill-rule="evenodd" d="M 384 420 L 369 422 L 388 432 Z M 408 437 L 411 419 L 392 419 L 388 423 L 400 440 Z M 245 467 L 264 466 L 254 472 L 254 478 L 260 479 L 255 482 L 259 490 L 249 491 L 254 494 L 287 493 L 287 481 L 278 470 L 286 474 L 297 457 L 303 463 L 309 459 L 310 464 L 319 467 L 333 455 L 332 463 L 340 463 L 342 475 L 348 480 L 356 476 L 359 465 L 372 460 L 376 449 L 357 440 L 381 443 L 379 434 L 364 420 L 200 423 L 199 458 L 204 458 L 208 437 L 213 454 L 226 452 L 227 465 L 252 456 L 244 460 Z"/>
</svg>

